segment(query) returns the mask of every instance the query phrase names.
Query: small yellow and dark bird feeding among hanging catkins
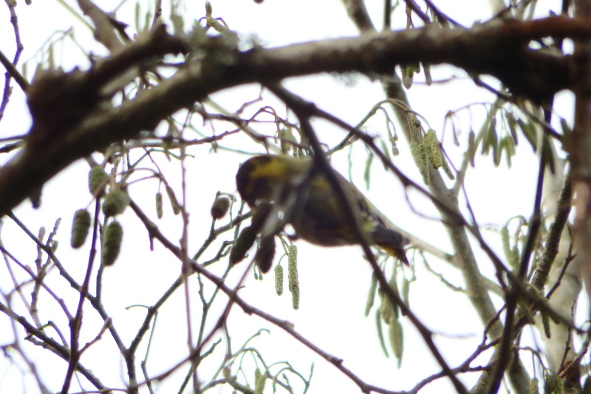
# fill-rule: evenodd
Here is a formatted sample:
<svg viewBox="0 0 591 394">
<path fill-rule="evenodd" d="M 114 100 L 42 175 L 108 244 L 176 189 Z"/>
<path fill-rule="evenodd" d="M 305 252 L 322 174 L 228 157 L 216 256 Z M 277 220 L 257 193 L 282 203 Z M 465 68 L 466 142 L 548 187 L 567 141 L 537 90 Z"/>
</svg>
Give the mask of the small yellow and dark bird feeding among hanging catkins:
<svg viewBox="0 0 591 394">
<path fill-rule="evenodd" d="M 338 172 L 335 175 L 366 240 L 408 265 L 404 252 L 408 240 L 388 227 L 387 219 L 355 185 Z M 306 182 L 307 177 L 311 177 L 309 183 Z M 255 207 L 258 202 L 274 203 L 280 208 L 291 207 L 289 212 L 285 212 L 291 215 L 288 223 L 296 230 L 296 236 L 308 242 L 339 246 L 361 241 L 343 213 L 333 186 L 322 172 L 313 169 L 311 158 L 297 159 L 285 155 L 252 157 L 238 169 L 236 185 L 242 200 L 250 207 Z M 306 195 L 297 196 L 297 193 Z M 294 205 L 296 201 L 298 204 Z"/>
</svg>

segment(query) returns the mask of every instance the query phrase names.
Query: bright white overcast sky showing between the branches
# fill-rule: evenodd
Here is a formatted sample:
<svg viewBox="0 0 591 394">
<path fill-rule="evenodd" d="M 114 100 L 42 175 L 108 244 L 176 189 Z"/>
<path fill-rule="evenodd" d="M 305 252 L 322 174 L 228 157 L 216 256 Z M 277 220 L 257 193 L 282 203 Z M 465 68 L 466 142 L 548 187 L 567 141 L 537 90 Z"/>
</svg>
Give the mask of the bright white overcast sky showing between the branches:
<svg viewBox="0 0 591 394">
<path fill-rule="evenodd" d="M 66 2 L 74 9 L 76 8 L 73 0 Z M 265 0 L 260 5 L 248 0 L 211 0 L 211 2 L 213 16 L 223 17 L 229 27 L 239 32 L 243 37 L 256 35 L 259 43 L 265 47 L 357 34 L 355 27 L 345 14 L 343 6 L 337 0 L 323 2 Z M 116 1 L 100 1 L 98 3 L 106 11 L 113 9 L 118 4 Z M 381 2 L 368 3 L 376 4 L 375 8 L 370 11 L 376 25 L 379 26 L 382 20 Z M 540 1 L 539 9 L 545 9 L 544 4 L 546 3 L 557 2 Z M 462 2 L 460 7 L 456 6 L 458 2 L 449 0 L 439 1 L 436 4 L 440 6 L 442 11 L 447 12 L 466 26 L 476 20 L 485 20 L 491 14 L 485 1 Z M 168 7 L 167 2 L 164 2 L 164 7 Z M 186 8 L 183 14 L 186 16 L 187 26 L 192 19 L 198 19 L 204 14 L 203 2 L 187 2 L 183 7 Z M 119 20 L 131 24 L 128 28 L 129 33 L 135 32 L 133 17 L 129 16 L 133 15 L 133 9 L 134 3 L 126 2 L 116 14 Z M 555 5 L 553 9 L 557 10 L 558 8 Z M 145 8 L 141 8 L 140 14 L 144 12 Z M 169 12 L 168 8 L 164 8 L 164 15 Z M 26 6 L 24 2 L 19 2 L 17 14 L 22 42 L 25 45 L 22 60 L 38 59 L 39 56 L 35 52 L 43 45 L 47 37 L 54 31 L 69 30 L 72 24 L 74 24 L 74 34 L 80 43 L 92 45 L 95 53 L 105 53 L 99 45 L 93 43 L 91 32 L 74 20 L 72 14 L 57 1 L 33 0 L 32 6 Z M 395 19 L 398 24 L 404 22 L 404 17 L 401 15 L 399 12 Z M 404 26 L 400 25 L 400 28 L 402 27 Z M 4 37 L 0 41 L 0 50 L 8 56 L 12 56 L 14 54 L 14 40 L 6 7 L 0 8 L 0 37 Z M 80 66 L 83 69 L 87 67 L 85 58 L 79 51 L 72 50 L 72 45 L 66 45 L 67 50 L 64 54 L 59 53 L 59 48 L 58 45 L 56 62 L 63 64 L 64 69 L 67 70 L 73 66 Z M 27 76 L 29 78 L 33 73 L 34 64 L 34 60 L 28 62 Z M 453 83 L 434 84 L 431 87 L 422 83 L 422 75 L 417 76 L 408 95 L 413 109 L 427 118 L 431 126 L 436 129 L 440 139 L 445 133 L 443 144 L 449 149 L 453 164 L 459 166 L 462 158 L 461 152 L 466 147 L 467 133 L 470 130 L 469 115 L 466 112 L 461 115 L 463 119 L 460 134 L 462 146 L 459 149 L 453 146 L 449 126 L 445 130 L 443 128 L 444 116 L 447 111 L 461 108 L 469 103 L 490 102 L 492 96 L 484 90 L 474 87 L 473 82 L 462 71 L 453 70 L 450 67 L 434 67 L 433 69 L 433 79 L 436 81 L 444 80 L 453 74 L 459 76 L 459 80 L 454 80 Z M 315 102 L 320 108 L 333 112 L 345 121 L 354 124 L 371 109 L 375 102 L 383 99 L 381 87 L 377 82 L 370 82 L 363 76 L 354 76 L 354 79 L 355 83 L 352 86 L 346 86 L 342 80 L 327 75 L 292 79 L 285 84 L 294 92 Z M 220 92 L 214 95 L 213 99 L 222 103 L 225 108 L 235 110 L 243 102 L 255 99 L 258 96 L 258 91 L 256 86 L 239 87 Z M 269 94 L 265 95 L 265 99 L 269 103 L 277 103 Z M 560 95 L 557 100 L 558 115 L 570 119 L 573 112 L 571 102 L 570 95 L 566 93 Z M 258 109 L 259 106 L 262 104 L 252 106 L 252 110 Z M 277 105 L 278 110 L 282 108 L 281 105 Z M 0 138 L 27 132 L 30 126 L 30 117 L 25 109 L 24 96 L 15 86 L 9 111 L 0 123 Z M 475 130 L 479 128 L 484 115 L 485 111 L 482 106 L 473 111 L 471 126 Z M 383 134 L 385 132 L 384 124 L 383 117 L 376 116 L 369 125 L 368 131 Z M 326 123 L 317 122 L 315 125 L 320 138 L 324 141 L 339 141 L 345 135 L 343 131 L 326 125 Z M 274 126 L 271 125 L 271 129 L 272 127 Z M 261 129 L 263 129 L 262 126 Z M 269 132 L 272 132 L 271 129 Z M 204 128 L 203 131 L 211 132 L 208 128 Z M 218 133 L 222 131 L 222 129 L 216 129 Z M 412 162 L 404 137 L 400 133 L 399 136 L 402 140 L 399 143 L 400 156 L 394 159 L 394 163 L 420 183 L 420 175 Z M 514 167 L 511 169 L 506 168 L 504 159 L 500 168 L 493 168 L 492 158 L 478 156 L 476 159 L 478 168 L 470 171 L 467 176 L 466 183 L 469 185 L 467 192 L 470 202 L 479 223 L 483 226 L 499 226 L 512 216 L 529 217 L 531 214 L 537 164 L 531 147 L 523 140 L 518 146 L 519 159 L 514 159 Z M 236 147 L 241 144 L 241 147 L 246 151 L 262 152 L 261 148 L 249 144 L 246 139 L 234 140 L 230 138 L 228 141 L 232 144 L 230 146 Z M 226 144 L 226 142 L 222 142 L 222 145 Z M 192 255 L 209 232 L 209 208 L 216 191 L 235 192 L 235 171 L 239 162 L 247 157 L 228 154 L 221 149 L 217 154 L 209 155 L 209 146 L 192 148 L 190 153 L 197 156 L 196 159 L 189 161 L 188 168 L 187 210 L 191 219 L 190 254 Z M 359 188 L 365 190 L 362 178 L 363 150 L 356 150 L 354 157 L 356 168 L 353 172 L 353 180 L 359 185 Z M 437 220 L 430 219 L 436 216 L 431 204 L 412 191 L 408 194 L 407 200 L 401 184 L 391 174 L 384 174 L 376 163 L 377 161 L 374 163 L 372 171 L 372 190 L 368 192 L 368 196 L 375 205 L 398 226 L 447 252 L 451 252 L 443 227 Z M 160 157 L 158 164 L 162 166 L 163 172 L 169 179 L 177 182 L 176 184 L 173 182 L 173 185 L 177 190 L 180 190 L 178 165 L 174 162 L 167 164 L 163 157 Z M 347 174 L 346 151 L 333 158 L 333 165 L 344 175 Z M 38 229 L 40 226 L 45 226 L 50 230 L 57 217 L 63 219 L 57 237 L 60 241 L 58 255 L 61 256 L 64 265 L 75 273 L 76 278 L 80 278 L 80 282 L 86 268 L 88 248 L 72 250 L 69 246 L 69 234 L 73 212 L 85 207 L 90 201 L 86 183 L 87 171 L 85 162 L 69 167 L 44 187 L 43 205 L 40 210 L 31 210 L 28 202 L 23 203 L 16 210 L 17 215 L 32 230 Z M 517 200 L 514 198 L 516 188 L 520 190 L 520 198 Z M 138 201 L 153 220 L 156 220 L 153 203 L 156 191 L 156 181 L 134 184 L 129 188 L 131 197 Z M 414 209 L 424 217 L 413 213 L 408 201 L 411 201 Z M 137 331 L 138 324 L 144 318 L 145 310 L 142 308 L 125 310 L 125 307 L 133 304 L 150 305 L 153 303 L 180 273 L 180 263 L 158 243 L 155 243 L 154 252 L 148 251 L 148 237 L 145 229 L 131 213 L 131 210 L 121 217 L 120 222 L 124 225 L 124 245 L 115 266 L 105 272 L 103 291 L 106 308 L 112 314 L 115 325 L 126 322 L 126 327 L 119 329 L 122 330 L 127 340 L 131 340 Z M 26 240 L 10 220 L 6 219 L 4 223 L 2 230 L 4 244 L 9 250 L 18 252 L 23 262 L 32 264 L 35 258 L 33 243 Z M 177 242 L 180 237 L 180 223 L 180 218 L 174 217 L 170 208 L 165 204 L 164 219 L 158 224 L 173 242 Z M 488 240 L 491 240 L 495 250 L 501 253 L 498 234 L 485 231 L 485 235 Z M 87 243 L 89 242 L 87 241 Z M 372 385 L 392 390 L 410 389 L 418 380 L 440 370 L 433 363 L 430 353 L 425 349 L 423 340 L 418 337 L 412 325 L 407 324 L 404 319 L 405 350 L 402 368 L 397 369 L 394 359 L 384 358 L 376 337 L 374 312 L 372 311 L 368 318 L 363 316 L 371 269 L 363 260 L 361 248 L 356 246 L 334 249 L 317 248 L 307 245 L 303 241 L 297 242 L 297 245 L 299 247 L 298 269 L 301 286 L 299 311 L 291 309 L 290 295 L 287 291 L 282 297 L 275 295 L 272 275 L 265 276 L 262 282 L 255 281 L 252 275 L 249 275 L 246 279 L 246 287 L 240 292 L 241 296 L 255 307 L 293 323 L 296 330 L 304 337 L 335 357 L 342 358 L 346 367 Z M 212 252 L 215 250 L 216 248 L 213 248 Z M 479 252 L 479 250 L 476 251 Z M 480 257 L 482 258 L 482 255 Z M 488 259 L 484 258 L 482 261 L 483 264 L 480 267 L 482 271 L 493 272 Z M 453 284 L 463 286 L 461 275 L 450 269 L 446 263 L 436 259 L 431 259 L 429 263 L 436 271 L 445 272 L 446 278 Z M 224 262 L 220 262 L 219 265 L 219 269 L 222 269 Z M 4 269 L 4 267 L 0 268 L 0 272 L 4 272 Z M 217 272 L 219 269 L 214 269 L 214 271 Z M 243 269 L 246 269 L 246 263 L 239 266 L 236 271 L 242 272 Z M 60 282 L 57 275 L 54 277 L 56 282 Z M 232 280 L 236 280 L 237 277 L 238 275 Z M 194 280 L 191 282 L 194 297 L 197 297 L 196 284 L 197 282 Z M 4 273 L 0 275 L 0 289 L 4 291 L 9 285 Z M 74 294 L 72 293 L 72 295 Z M 182 360 L 186 353 L 186 318 L 182 289 L 177 291 L 174 298 L 176 300 L 169 301 L 167 307 L 158 315 L 152 354 L 148 359 L 148 370 L 151 373 L 166 370 Z M 417 259 L 417 281 L 411 285 L 410 299 L 411 307 L 417 315 L 427 327 L 438 333 L 437 344 L 441 352 L 446 355 L 450 365 L 456 366 L 462 362 L 467 354 L 471 353 L 473 347 L 480 342 L 482 327 L 465 297 L 462 294 L 454 294 L 449 291 L 438 278 L 427 273 L 419 259 Z M 17 302 L 17 299 L 15 298 L 14 301 Z M 70 302 L 70 306 L 73 305 L 72 300 L 67 301 Z M 501 305 L 499 299 L 495 299 L 495 302 Z M 173 308 L 174 305 L 178 305 L 178 308 Z M 199 302 L 195 302 L 193 305 L 194 321 L 197 321 L 199 314 Z M 50 316 L 44 318 L 54 319 Z M 56 318 L 56 320 L 60 319 L 61 317 Z M 100 323 L 97 322 L 96 314 L 88 312 L 85 315 L 86 340 L 96 335 L 96 332 L 90 330 L 90 327 L 100 327 Z M 301 344 L 286 336 L 280 328 L 256 317 L 246 316 L 239 311 L 239 308 L 234 307 L 230 317 L 230 327 L 238 325 L 242 328 L 240 331 L 233 331 L 234 347 L 254 334 L 258 328 L 268 328 L 271 330 L 271 334 L 263 334 L 252 342 L 253 346 L 262 351 L 268 363 L 290 360 L 297 370 L 303 375 L 307 375 L 311 362 L 314 362 L 314 377 L 309 393 L 359 392 L 352 381 L 309 350 L 303 349 Z M 4 316 L 0 317 L 0 327 L 9 327 Z M 66 327 L 66 324 L 63 324 L 63 327 Z M 458 335 L 460 336 L 458 337 Z M 5 337 L 0 337 L 0 343 L 4 344 L 7 341 Z M 122 364 L 105 356 L 113 350 L 112 340 L 105 337 L 100 341 L 100 345 L 93 346 L 85 354 L 85 357 L 86 360 L 100 360 L 99 363 L 88 363 L 87 366 L 93 369 L 99 377 L 111 376 L 113 380 L 106 381 L 107 385 L 121 386 L 119 379 L 124 371 Z M 41 376 L 48 387 L 59 390 L 66 363 L 56 361 L 56 357 L 48 354 L 45 350 L 32 350 L 30 354 L 33 359 L 39 357 L 38 359 L 47 360 L 46 363 L 41 364 L 43 366 L 40 371 Z M 482 362 L 485 362 L 485 359 L 482 359 Z M 2 377 L 5 371 L 9 375 Z M 12 373 L 14 370 L 8 367 L 6 359 L 0 360 L 0 392 L 14 392 L 15 389 L 21 388 L 20 374 L 14 373 L 12 375 Z M 171 390 L 178 388 L 178 382 L 179 379 L 182 379 L 182 375 L 183 373 L 165 380 L 158 392 L 171 392 Z M 203 373 L 202 376 L 206 377 L 207 373 Z M 472 379 L 475 379 L 476 376 L 463 377 L 466 379 L 467 386 L 470 387 L 473 383 Z M 292 382 L 294 380 L 292 378 Z M 28 384 L 27 387 L 31 392 L 35 392 L 32 389 L 34 385 Z M 73 391 L 76 390 L 75 387 L 74 385 Z M 422 392 L 447 392 L 449 387 L 448 380 L 441 379 L 433 385 L 427 386 Z M 85 388 L 90 389 L 90 385 L 86 385 Z M 230 392 L 230 390 L 226 386 L 223 392 Z"/>
</svg>

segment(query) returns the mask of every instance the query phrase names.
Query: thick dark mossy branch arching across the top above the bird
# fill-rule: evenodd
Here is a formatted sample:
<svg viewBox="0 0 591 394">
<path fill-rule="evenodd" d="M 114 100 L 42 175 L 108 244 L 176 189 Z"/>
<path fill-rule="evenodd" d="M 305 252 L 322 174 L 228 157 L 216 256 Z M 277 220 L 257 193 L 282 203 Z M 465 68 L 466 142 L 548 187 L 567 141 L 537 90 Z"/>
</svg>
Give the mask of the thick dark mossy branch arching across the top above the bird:
<svg viewBox="0 0 591 394">
<path fill-rule="evenodd" d="M 571 85 L 569 57 L 527 49 L 529 40 L 548 35 L 591 37 L 591 25 L 556 17 L 496 22 L 470 30 L 428 26 L 268 50 L 256 47 L 242 53 L 225 37 L 183 41 L 160 29 L 85 73 L 54 72 L 31 85 L 28 95 L 34 124 L 28 144 L 0 171 L 0 214 L 76 159 L 152 130 L 177 110 L 239 84 L 329 71 L 391 73 L 395 64 L 420 60 L 454 64 L 471 74 L 492 74 L 514 92 L 539 99 Z M 138 63 L 153 61 L 154 56 L 187 47 L 195 48 L 198 60 L 134 100 L 108 108 L 111 85 L 118 77 Z"/>
</svg>

